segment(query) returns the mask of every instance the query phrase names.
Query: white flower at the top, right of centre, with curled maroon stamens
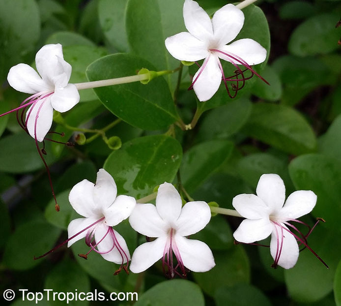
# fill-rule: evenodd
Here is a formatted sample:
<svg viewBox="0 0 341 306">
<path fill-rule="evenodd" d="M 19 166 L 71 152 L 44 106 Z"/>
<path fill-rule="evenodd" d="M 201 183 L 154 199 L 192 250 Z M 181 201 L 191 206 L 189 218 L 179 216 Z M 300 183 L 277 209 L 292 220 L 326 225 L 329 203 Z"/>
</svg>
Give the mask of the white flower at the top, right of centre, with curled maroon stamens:
<svg viewBox="0 0 341 306">
<path fill-rule="evenodd" d="M 199 61 L 205 59 L 201 68 L 194 75 L 193 87 L 200 101 L 210 99 L 217 92 L 222 81 L 231 81 L 225 77 L 219 59 L 231 62 L 239 71 L 238 79 L 247 78 L 237 66 L 239 64 L 260 77 L 250 65 L 265 61 L 266 50 L 250 38 L 231 42 L 244 24 L 243 12 L 233 4 L 227 4 L 216 11 L 212 20 L 196 1 L 185 0 L 183 16 L 188 32 L 181 32 L 166 39 L 166 48 L 180 61 Z M 238 87 L 238 82 L 237 82 Z M 228 90 L 228 88 L 227 88 Z"/>
</svg>

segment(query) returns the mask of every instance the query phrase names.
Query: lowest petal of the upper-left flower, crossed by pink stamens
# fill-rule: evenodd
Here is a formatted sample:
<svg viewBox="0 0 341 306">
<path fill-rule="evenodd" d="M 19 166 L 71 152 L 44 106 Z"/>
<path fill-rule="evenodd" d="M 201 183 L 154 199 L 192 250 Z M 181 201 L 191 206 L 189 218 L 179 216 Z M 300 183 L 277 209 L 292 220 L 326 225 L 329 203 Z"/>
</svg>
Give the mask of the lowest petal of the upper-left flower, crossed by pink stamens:
<svg viewBox="0 0 341 306">
<path fill-rule="evenodd" d="M 43 141 L 44 137 L 51 128 L 53 120 L 53 108 L 51 96 L 40 99 L 32 104 L 26 112 L 26 122 L 29 135 Z"/>
</svg>

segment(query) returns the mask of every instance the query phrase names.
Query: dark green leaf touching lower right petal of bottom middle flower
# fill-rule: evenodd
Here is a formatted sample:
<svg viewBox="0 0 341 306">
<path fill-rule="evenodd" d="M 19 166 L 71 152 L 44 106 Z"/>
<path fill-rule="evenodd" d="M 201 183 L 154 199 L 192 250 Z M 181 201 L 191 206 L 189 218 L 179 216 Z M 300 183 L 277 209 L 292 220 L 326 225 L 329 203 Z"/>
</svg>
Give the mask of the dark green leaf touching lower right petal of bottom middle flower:
<svg viewBox="0 0 341 306">
<path fill-rule="evenodd" d="M 214 252 L 216 266 L 205 273 L 193 273 L 202 290 L 213 297 L 218 287 L 250 282 L 250 263 L 241 245 Z"/>
</svg>

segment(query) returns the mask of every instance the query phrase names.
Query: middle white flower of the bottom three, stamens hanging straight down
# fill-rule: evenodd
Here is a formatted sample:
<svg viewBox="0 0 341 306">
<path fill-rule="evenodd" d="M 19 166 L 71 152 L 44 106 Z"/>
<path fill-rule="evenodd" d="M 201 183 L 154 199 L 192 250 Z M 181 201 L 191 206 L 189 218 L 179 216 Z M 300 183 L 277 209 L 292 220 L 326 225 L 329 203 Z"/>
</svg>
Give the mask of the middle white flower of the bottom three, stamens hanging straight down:
<svg viewBox="0 0 341 306">
<path fill-rule="evenodd" d="M 205 272 L 215 266 L 210 248 L 199 240 L 185 236 L 203 229 L 211 218 L 207 203 L 188 202 L 182 207 L 182 200 L 172 184 L 159 186 L 156 206 L 137 204 L 129 217 L 130 225 L 142 235 L 156 237 L 144 243 L 133 253 L 130 270 L 140 273 L 162 258 L 165 274 L 186 276 L 185 267 L 194 272 Z M 177 259 L 174 267 L 173 254 Z M 180 273 L 177 272 L 180 269 Z"/>
</svg>

